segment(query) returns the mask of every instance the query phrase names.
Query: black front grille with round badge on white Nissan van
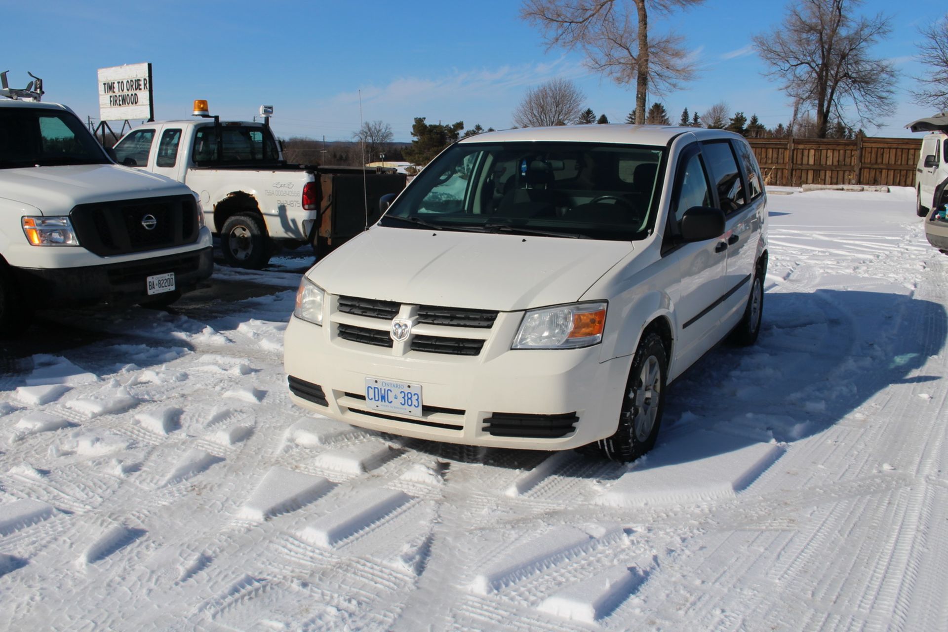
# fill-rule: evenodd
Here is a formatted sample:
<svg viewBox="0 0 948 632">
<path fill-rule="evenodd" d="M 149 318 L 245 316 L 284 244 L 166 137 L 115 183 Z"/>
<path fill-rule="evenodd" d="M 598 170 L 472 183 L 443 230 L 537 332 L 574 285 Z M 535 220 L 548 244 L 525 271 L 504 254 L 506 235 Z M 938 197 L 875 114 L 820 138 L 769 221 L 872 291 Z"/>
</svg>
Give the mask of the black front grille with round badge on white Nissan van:
<svg viewBox="0 0 948 632">
<path fill-rule="evenodd" d="M 81 204 L 69 218 L 80 244 L 100 257 L 193 244 L 198 236 L 191 195 Z"/>
</svg>

